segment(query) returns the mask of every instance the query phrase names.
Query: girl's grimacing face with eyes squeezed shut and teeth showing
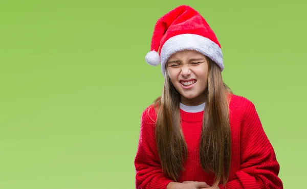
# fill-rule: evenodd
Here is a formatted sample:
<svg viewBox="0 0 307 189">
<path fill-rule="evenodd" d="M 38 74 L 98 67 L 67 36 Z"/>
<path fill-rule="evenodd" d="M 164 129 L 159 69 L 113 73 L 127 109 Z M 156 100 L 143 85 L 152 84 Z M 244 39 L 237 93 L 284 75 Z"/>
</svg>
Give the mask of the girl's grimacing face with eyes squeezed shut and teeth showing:
<svg viewBox="0 0 307 189">
<path fill-rule="evenodd" d="M 207 58 L 196 51 L 180 51 L 166 63 L 173 86 L 181 95 L 181 103 L 196 106 L 206 102 L 208 84 Z"/>
</svg>

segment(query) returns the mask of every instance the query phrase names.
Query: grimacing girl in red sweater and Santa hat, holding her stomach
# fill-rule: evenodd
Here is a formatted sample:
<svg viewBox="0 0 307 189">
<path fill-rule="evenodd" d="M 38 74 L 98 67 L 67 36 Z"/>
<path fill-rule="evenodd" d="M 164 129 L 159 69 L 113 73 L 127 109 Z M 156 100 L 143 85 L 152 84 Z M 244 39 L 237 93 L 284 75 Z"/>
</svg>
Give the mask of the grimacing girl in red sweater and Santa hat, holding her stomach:
<svg viewBox="0 0 307 189">
<path fill-rule="evenodd" d="M 141 116 L 136 188 L 283 188 L 255 106 L 223 82 L 221 45 L 198 12 L 161 17 L 145 59 L 165 80 Z"/>
</svg>

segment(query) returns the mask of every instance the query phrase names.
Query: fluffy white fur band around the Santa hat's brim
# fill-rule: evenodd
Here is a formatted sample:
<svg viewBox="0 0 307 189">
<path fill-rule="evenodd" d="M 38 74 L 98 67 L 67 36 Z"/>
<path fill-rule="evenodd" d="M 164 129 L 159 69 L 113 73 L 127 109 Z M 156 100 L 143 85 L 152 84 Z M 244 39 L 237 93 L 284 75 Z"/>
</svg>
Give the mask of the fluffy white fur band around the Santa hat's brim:
<svg viewBox="0 0 307 189">
<path fill-rule="evenodd" d="M 212 40 L 196 34 L 181 34 L 169 38 L 161 49 L 161 69 L 165 77 L 165 64 L 168 58 L 183 50 L 195 50 L 210 58 L 221 70 L 224 69 L 223 54 L 220 46 Z"/>
</svg>

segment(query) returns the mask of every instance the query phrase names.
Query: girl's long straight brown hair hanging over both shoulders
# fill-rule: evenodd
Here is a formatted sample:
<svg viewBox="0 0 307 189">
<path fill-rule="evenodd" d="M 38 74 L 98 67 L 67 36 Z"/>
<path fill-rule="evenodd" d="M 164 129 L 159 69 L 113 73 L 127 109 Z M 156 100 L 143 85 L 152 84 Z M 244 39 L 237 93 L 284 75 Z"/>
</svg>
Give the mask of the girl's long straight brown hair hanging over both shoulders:
<svg viewBox="0 0 307 189">
<path fill-rule="evenodd" d="M 213 186 L 229 178 L 231 135 L 228 95 L 231 89 L 223 82 L 221 69 L 209 58 L 207 101 L 200 141 L 200 162 L 207 172 L 215 174 Z M 180 94 L 165 72 L 162 96 L 154 102 L 157 112 L 156 143 L 162 170 L 174 181 L 179 180 L 183 163 L 188 156 L 181 129 Z"/>
</svg>

